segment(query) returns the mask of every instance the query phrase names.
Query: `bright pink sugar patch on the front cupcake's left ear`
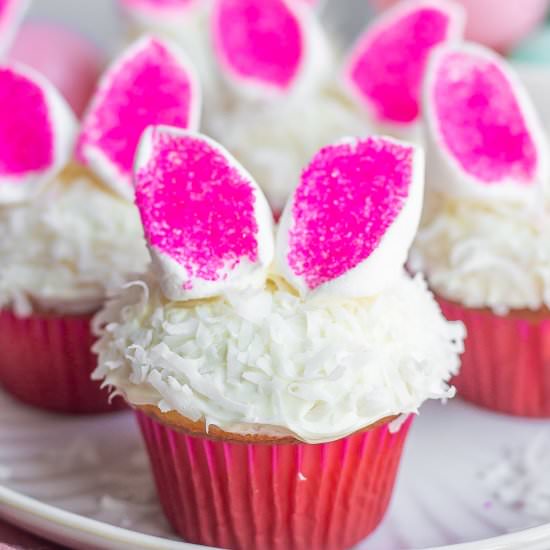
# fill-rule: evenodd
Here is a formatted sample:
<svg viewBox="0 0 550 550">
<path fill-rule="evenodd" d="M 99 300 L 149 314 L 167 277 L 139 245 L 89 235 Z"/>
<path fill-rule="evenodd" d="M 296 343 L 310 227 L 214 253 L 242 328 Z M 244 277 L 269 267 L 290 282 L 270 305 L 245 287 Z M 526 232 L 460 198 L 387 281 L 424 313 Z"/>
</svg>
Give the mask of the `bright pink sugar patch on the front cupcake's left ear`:
<svg viewBox="0 0 550 550">
<path fill-rule="evenodd" d="M 242 259 L 256 262 L 250 182 L 201 138 L 156 133 L 153 139 L 152 157 L 136 175 L 149 244 L 205 281 L 223 279 Z"/>
</svg>

